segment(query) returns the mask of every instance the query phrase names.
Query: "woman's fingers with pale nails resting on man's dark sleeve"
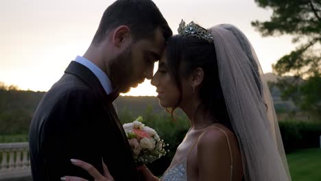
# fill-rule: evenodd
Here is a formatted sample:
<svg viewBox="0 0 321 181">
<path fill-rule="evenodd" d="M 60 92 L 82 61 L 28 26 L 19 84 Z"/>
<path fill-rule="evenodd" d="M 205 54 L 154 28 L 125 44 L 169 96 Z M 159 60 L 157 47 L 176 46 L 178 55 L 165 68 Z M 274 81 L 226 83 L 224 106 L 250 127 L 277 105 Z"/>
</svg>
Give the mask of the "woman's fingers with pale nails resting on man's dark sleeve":
<svg viewBox="0 0 321 181">
<path fill-rule="evenodd" d="M 107 165 L 102 161 L 103 168 L 104 168 L 104 175 L 99 173 L 99 171 L 93 167 L 93 165 L 89 164 L 88 162 L 84 162 L 82 160 L 71 159 L 73 165 L 78 166 L 84 170 L 86 170 L 89 175 L 91 175 L 95 181 L 115 181 L 114 178 L 109 173 Z M 60 178 L 63 181 L 87 181 L 84 178 L 74 177 L 74 176 L 64 176 Z"/>
</svg>

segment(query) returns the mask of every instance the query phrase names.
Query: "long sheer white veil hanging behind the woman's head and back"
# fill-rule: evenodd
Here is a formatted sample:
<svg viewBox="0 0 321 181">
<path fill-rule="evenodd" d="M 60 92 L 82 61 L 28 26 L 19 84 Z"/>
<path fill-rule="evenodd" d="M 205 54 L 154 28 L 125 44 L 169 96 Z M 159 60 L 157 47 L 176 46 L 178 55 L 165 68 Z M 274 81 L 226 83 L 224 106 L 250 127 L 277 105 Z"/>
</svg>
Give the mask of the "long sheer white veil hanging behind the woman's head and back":
<svg viewBox="0 0 321 181">
<path fill-rule="evenodd" d="M 273 100 L 252 45 L 233 25 L 216 25 L 210 32 L 245 179 L 291 180 Z"/>
</svg>

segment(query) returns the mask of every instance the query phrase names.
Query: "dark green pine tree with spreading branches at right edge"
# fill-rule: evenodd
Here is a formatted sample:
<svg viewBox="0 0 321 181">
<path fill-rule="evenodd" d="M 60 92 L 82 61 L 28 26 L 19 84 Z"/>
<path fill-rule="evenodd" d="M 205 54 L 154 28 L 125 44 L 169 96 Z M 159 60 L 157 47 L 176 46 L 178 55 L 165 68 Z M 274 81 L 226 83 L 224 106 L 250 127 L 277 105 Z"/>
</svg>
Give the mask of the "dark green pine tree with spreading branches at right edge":
<svg viewBox="0 0 321 181">
<path fill-rule="evenodd" d="M 298 47 L 280 58 L 273 70 L 292 75 L 293 82 L 281 81 L 283 98 L 292 98 L 302 110 L 321 117 L 321 1 L 254 0 L 261 8 L 273 10 L 270 21 L 252 21 L 262 36 L 294 36 Z M 302 78 L 304 82 L 300 81 Z"/>
</svg>

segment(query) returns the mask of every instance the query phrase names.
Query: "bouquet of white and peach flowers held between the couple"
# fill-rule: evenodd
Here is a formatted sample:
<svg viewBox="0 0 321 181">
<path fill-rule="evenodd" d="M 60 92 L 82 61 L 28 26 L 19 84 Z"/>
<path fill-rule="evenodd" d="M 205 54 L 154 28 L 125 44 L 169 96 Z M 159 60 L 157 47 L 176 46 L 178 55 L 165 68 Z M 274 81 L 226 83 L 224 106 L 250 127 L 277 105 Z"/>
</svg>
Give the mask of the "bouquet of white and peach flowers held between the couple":
<svg viewBox="0 0 321 181">
<path fill-rule="evenodd" d="M 165 144 L 157 132 L 141 123 L 143 117 L 138 117 L 132 123 L 123 124 L 134 160 L 138 164 L 147 164 L 164 156 L 167 152 Z"/>
</svg>

